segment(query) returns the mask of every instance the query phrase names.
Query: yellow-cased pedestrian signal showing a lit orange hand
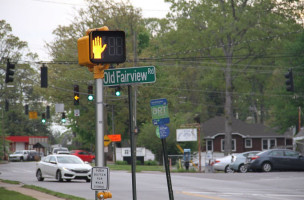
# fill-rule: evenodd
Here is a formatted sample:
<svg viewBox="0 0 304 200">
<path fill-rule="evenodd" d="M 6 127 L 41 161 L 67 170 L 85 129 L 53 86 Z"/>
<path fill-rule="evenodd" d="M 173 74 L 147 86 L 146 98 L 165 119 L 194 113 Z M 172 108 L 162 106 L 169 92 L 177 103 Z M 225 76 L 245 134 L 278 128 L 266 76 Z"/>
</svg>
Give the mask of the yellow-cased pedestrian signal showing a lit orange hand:
<svg viewBox="0 0 304 200">
<path fill-rule="evenodd" d="M 123 63 L 126 60 L 126 42 L 124 31 L 95 29 L 79 38 L 78 62 L 80 65 Z"/>
</svg>

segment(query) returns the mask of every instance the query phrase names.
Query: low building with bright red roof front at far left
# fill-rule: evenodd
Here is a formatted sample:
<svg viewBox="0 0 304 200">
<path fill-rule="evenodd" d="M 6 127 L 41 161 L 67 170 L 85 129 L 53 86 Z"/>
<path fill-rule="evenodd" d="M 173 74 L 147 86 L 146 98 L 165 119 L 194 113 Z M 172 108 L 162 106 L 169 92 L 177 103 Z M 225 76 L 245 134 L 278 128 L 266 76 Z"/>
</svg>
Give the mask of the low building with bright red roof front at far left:
<svg viewBox="0 0 304 200">
<path fill-rule="evenodd" d="M 10 142 L 9 150 L 36 150 L 37 152 L 46 153 L 47 136 L 7 136 L 6 140 Z"/>
</svg>

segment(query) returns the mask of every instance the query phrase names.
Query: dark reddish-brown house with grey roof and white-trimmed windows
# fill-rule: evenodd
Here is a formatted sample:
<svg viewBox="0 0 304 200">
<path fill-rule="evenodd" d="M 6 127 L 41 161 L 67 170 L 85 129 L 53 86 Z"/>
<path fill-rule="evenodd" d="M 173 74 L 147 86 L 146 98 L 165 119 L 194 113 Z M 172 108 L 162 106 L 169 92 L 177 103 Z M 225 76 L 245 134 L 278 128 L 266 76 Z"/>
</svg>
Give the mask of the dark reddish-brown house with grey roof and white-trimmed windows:
<svg viewBox="0 0 304 200">
<path fill-rule="evenodd" d="M 224 152 L 224 117 L 214 117 L 201 124 L 201 134 L 205 140 L 206 152 Z M 291 131 L 279 134 L 263 124 L 248 124 L 239 119 L 232 119 L 232 152 L 234 153 L 271 148 L 292 149 L 292 137 Z"/>
</svg>

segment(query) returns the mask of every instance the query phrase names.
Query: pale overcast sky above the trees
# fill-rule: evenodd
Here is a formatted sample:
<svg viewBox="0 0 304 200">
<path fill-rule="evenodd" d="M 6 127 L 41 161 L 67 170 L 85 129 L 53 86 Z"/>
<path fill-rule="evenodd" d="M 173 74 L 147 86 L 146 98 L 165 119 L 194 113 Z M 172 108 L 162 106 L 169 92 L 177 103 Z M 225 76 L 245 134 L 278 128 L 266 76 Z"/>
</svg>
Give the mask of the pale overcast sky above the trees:
<svg viewBox="0 0 304 200">
<path fill-rule="evenodd" d="M 165 17 L 170 5 L 164 0 L 130 2 L 142 9 L 144 17 Z M 40 60 L 48 61 L 50 58 L 44 46 L 45 42 L 53 40 L 52 31 L 58 25 L 70 24 L 75 9 L 83 7 L 84 0 L 0 0 L 0 19 L 11 25 L 15 36 L 28 42 L 30 50 L 38 53 Z"/>
</svg>

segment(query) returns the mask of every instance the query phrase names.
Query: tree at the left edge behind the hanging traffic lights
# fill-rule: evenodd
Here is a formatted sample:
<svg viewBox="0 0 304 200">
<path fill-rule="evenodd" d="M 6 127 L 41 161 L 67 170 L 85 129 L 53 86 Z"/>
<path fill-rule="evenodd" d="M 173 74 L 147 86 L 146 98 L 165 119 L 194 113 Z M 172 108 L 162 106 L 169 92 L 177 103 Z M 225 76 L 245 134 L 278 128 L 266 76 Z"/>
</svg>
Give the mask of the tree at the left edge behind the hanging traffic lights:
<svg viewBox="0 0 304 200">
<path fill-rule="evenodd" d="M 28 50 L 27 42 L 21 41 L 12 34 L 11 26 L 4 20 L 0 20 L 0 66 L 4 73 L 0 80 L 0 97 L 2 104 L 1 136 L 5 135 L 50 135 L 48 127 L 42 125 L 40 120 L 29 120 L 24 114 L 24 105 L 40 114 L 44 109 L 41 95 L 37 66 L 33 64 L 38 58 L 37 54 Z M 7 60 L 15 64 L 13 82 L 6 84 L 5 71 Z M 23 59 L 31 61 L 31 64 L 22 64 Z M 9 87 L 10 85 L 11 87 Z M 39 85 L 39 86 L 38 86 Z M 12 87 L 13 86 L 13 87 Z M 4 104 L 8 102 L 9 109 L 4 111 Z M 2 142 L 3 140 L 1 140 Z M 2 149 L 2 148 L 1 148 Z M 5 148 L 4 153 L 5 153 Z"/>
</svg>

